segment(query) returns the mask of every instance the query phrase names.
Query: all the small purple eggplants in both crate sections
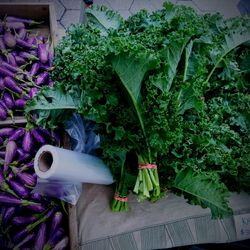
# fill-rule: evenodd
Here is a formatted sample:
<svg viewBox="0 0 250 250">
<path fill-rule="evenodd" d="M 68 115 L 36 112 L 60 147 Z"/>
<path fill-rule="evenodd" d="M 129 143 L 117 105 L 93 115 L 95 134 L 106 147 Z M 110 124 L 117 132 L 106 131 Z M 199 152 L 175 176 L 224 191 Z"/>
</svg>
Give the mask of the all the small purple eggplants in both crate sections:
<svg viewBox="0 0 250 250">
<path fill-rule="evenodd" d="M 0 20 L 0 120 L 22 115 L 25 103 L 41 85 L 52 84 L 49 43 L 28 31 L 34 24 L 11 16 Z M 58 130 L 36 127 L 32 121 L 19 127 L 14 123 L 0 126 L 1 249 L 68 246 L 62 203 L 32 192 L 37 182 L 34 156 L 44 144 L 60 146 Z"/>
</svg>

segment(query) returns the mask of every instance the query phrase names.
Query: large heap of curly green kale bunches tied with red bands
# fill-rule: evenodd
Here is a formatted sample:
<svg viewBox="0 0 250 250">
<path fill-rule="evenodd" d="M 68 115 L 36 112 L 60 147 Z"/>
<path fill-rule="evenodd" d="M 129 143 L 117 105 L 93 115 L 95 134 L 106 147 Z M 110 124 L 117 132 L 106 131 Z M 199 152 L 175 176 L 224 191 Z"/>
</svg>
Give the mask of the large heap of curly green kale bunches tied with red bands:
<svg viewBox="0 0 250 250">
<path fill-rule="evenodd" d="M 154 202 L 171 191 L 231 215 L 230 191 L 250 192 L 249 18 L 171 3 L 127 20 L 103 6 L 86 14 L 56 48 L 54 86 L 26 114 L 50 128 L 76 111 L 95 122 L 113 211 L 129 209 L 131 192 Z"/>
</svg>

